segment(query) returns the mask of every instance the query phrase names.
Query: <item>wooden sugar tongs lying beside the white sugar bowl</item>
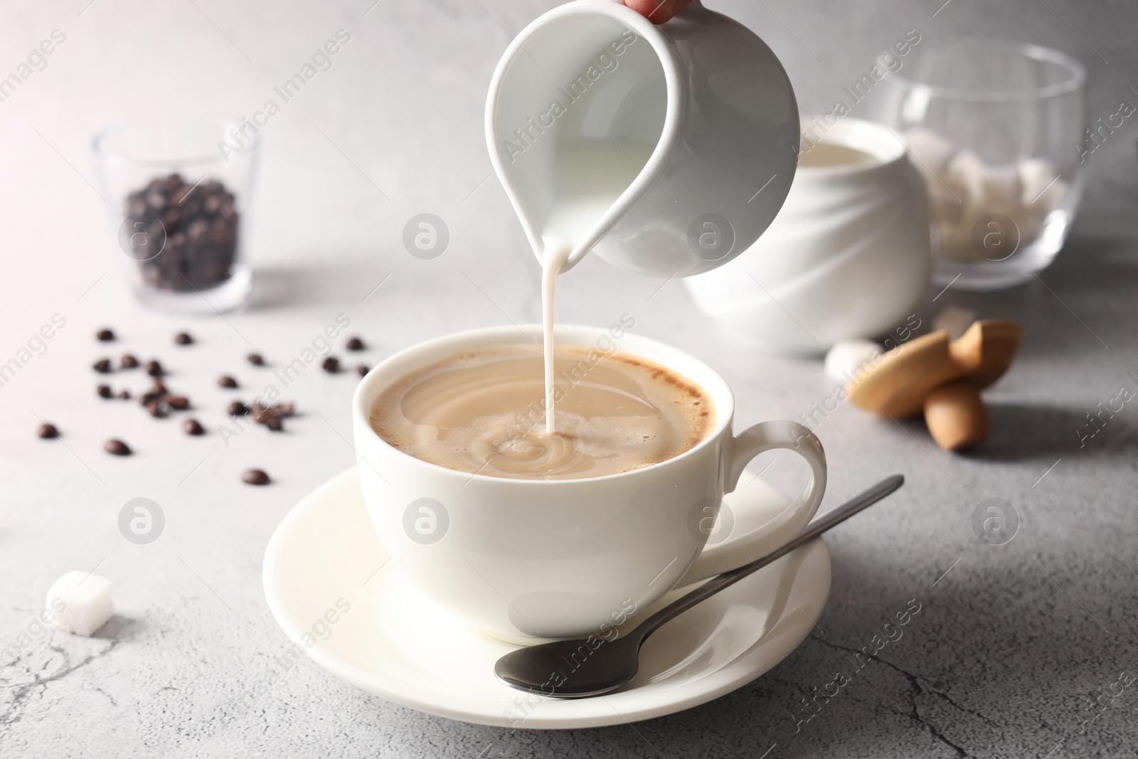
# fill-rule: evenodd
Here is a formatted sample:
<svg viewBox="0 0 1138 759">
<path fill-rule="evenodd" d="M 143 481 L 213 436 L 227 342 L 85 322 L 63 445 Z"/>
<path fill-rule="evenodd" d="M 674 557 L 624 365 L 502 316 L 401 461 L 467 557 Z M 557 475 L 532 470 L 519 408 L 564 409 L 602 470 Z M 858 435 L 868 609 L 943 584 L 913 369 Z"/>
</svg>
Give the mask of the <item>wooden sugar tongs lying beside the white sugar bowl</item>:
<svg viewBox="0 0 1138 759">
<path fill-rule="evenodd" d="M 931 332 L 866 365 L 846 386 L 850 402 L 881 416 L 902 419 L 924 411 L 937 445 L 960 451 L 988 436 L 980 390 L 998 380 L 1015 357 L 1020 324 L 984 319 L 956 340 Z"/>
</svg>

